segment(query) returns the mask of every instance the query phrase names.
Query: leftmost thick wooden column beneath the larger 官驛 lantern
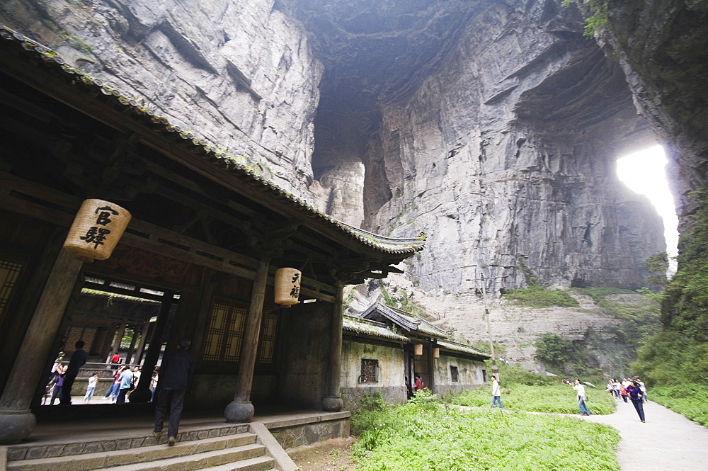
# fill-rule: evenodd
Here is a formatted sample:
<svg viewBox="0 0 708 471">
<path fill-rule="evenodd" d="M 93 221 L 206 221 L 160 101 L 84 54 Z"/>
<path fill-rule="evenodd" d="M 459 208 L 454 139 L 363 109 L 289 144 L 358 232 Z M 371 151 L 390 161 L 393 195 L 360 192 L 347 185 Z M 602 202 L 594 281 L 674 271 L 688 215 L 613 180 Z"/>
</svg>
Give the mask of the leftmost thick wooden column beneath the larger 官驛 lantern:
<svg viewBox="0 0 708 471">
<path fill-rule="evenodd" d="M 44 373 L 42 366 L 52 348 L 64 310 L 81 272 L 81 261 L 62 250 L 52 268 L 0 397 L 0 443 L 17 443 L 35 428 L 29 407 Z"/>
</svg>

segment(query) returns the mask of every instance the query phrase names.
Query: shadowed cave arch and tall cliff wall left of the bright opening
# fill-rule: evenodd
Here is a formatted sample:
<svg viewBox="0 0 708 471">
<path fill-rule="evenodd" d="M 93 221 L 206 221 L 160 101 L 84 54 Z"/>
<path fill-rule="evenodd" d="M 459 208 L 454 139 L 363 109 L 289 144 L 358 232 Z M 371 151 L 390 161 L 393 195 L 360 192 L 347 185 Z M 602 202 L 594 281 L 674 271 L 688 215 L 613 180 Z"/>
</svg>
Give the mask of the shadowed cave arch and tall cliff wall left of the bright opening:
<svg viewBox="0 0 708 471">
<path fill-rule="evenodd" d="M 643 285 L 641 263 L 666 249 L 662 223 L 619 183 L 615 160 L 656 141 L 577 11 L 554 1 L 341 4 L 339 14 L 300 13 L 326 33 L 315 176 L 336 180 L 363 162 L 365 227 L 429 234 L 409 272 L 421 288 L 462 292 L 483 272 L 507 276 L 490 290 L 530 276 Z M 365 28 L 365 17 L 377 21 Z"/>
</svg>

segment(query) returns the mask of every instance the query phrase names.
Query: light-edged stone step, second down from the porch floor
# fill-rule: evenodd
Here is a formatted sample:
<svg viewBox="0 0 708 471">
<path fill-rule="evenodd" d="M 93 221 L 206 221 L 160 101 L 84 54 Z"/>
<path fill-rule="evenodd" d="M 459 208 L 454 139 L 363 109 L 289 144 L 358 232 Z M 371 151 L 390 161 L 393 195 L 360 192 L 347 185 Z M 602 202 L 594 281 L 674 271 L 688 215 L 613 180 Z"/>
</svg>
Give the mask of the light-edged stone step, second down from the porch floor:
<svg viewBox="0 0 708 471">
<path fill-rule="evenodd" d="M 161 443 L 166 443 L 166 436 L 160 438 Z M 8 471 L 87 471 L 149 463 L 154 460 L 181 458 L 190 455 L 200 455 L 219 450 L 233 450 L 244 453 L 246 458 L 256 456 L 255 450 L 260 454 L 265 448 L 256 444 L 256 435 L 253 433 L 238 433 L 236 435 L 204 438 L 202 440 L 178 442 L 175 446 L 164 444 L 144 446 L 141 448 L 126 448 L 103 453 L 82 453 L 78 455 L 58 456 L 56 458 L 38 458 L 31 460 L 8 461 Z M 226 462 L 222 462 L 226 463 Z M 219 463 L 221 464 L 221 463 Z M 198 469 L 198 468 L 193 468 Z"/>
</svg>

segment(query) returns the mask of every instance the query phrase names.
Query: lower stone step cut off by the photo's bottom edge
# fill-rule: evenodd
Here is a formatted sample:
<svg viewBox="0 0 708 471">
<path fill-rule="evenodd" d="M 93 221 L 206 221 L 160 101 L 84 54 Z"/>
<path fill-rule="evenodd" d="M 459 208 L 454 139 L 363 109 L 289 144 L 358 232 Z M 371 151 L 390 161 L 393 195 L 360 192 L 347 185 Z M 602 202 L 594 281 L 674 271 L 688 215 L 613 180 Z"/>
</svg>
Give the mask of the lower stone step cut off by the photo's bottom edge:
<svg viewBox="0 0 708 471">
<path fill-rule="evenodd" d="M 244 450 L 248 448 L 248 450 Z M 263 446 L 245 446 L 229 450 L 208 451 L 192 456 L 179 456 L 149 463 L 133 463 L 116 467 L 100 468 L 110 471 L 195 471 L 219 470 L 263 471 L 270 470 L 275 460 L 264 455 Z M 95 470 L 94 470 L 95 471 Z"/>
</svg>

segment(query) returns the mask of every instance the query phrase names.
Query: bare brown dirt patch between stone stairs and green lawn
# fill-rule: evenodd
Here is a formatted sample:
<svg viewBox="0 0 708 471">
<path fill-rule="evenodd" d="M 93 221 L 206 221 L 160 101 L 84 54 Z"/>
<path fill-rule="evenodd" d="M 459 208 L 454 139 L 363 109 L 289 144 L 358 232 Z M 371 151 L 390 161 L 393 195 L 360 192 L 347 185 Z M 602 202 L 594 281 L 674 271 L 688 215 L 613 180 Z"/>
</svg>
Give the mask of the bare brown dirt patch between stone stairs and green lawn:
<svg viewBox="0 0 708 471">
<path fill-rule="evenodd" d="M 355 463 L 350 459 L 353 438 L 331 438 L 287 449 L 300 471 L 353 471 Z"/>
</svg>

